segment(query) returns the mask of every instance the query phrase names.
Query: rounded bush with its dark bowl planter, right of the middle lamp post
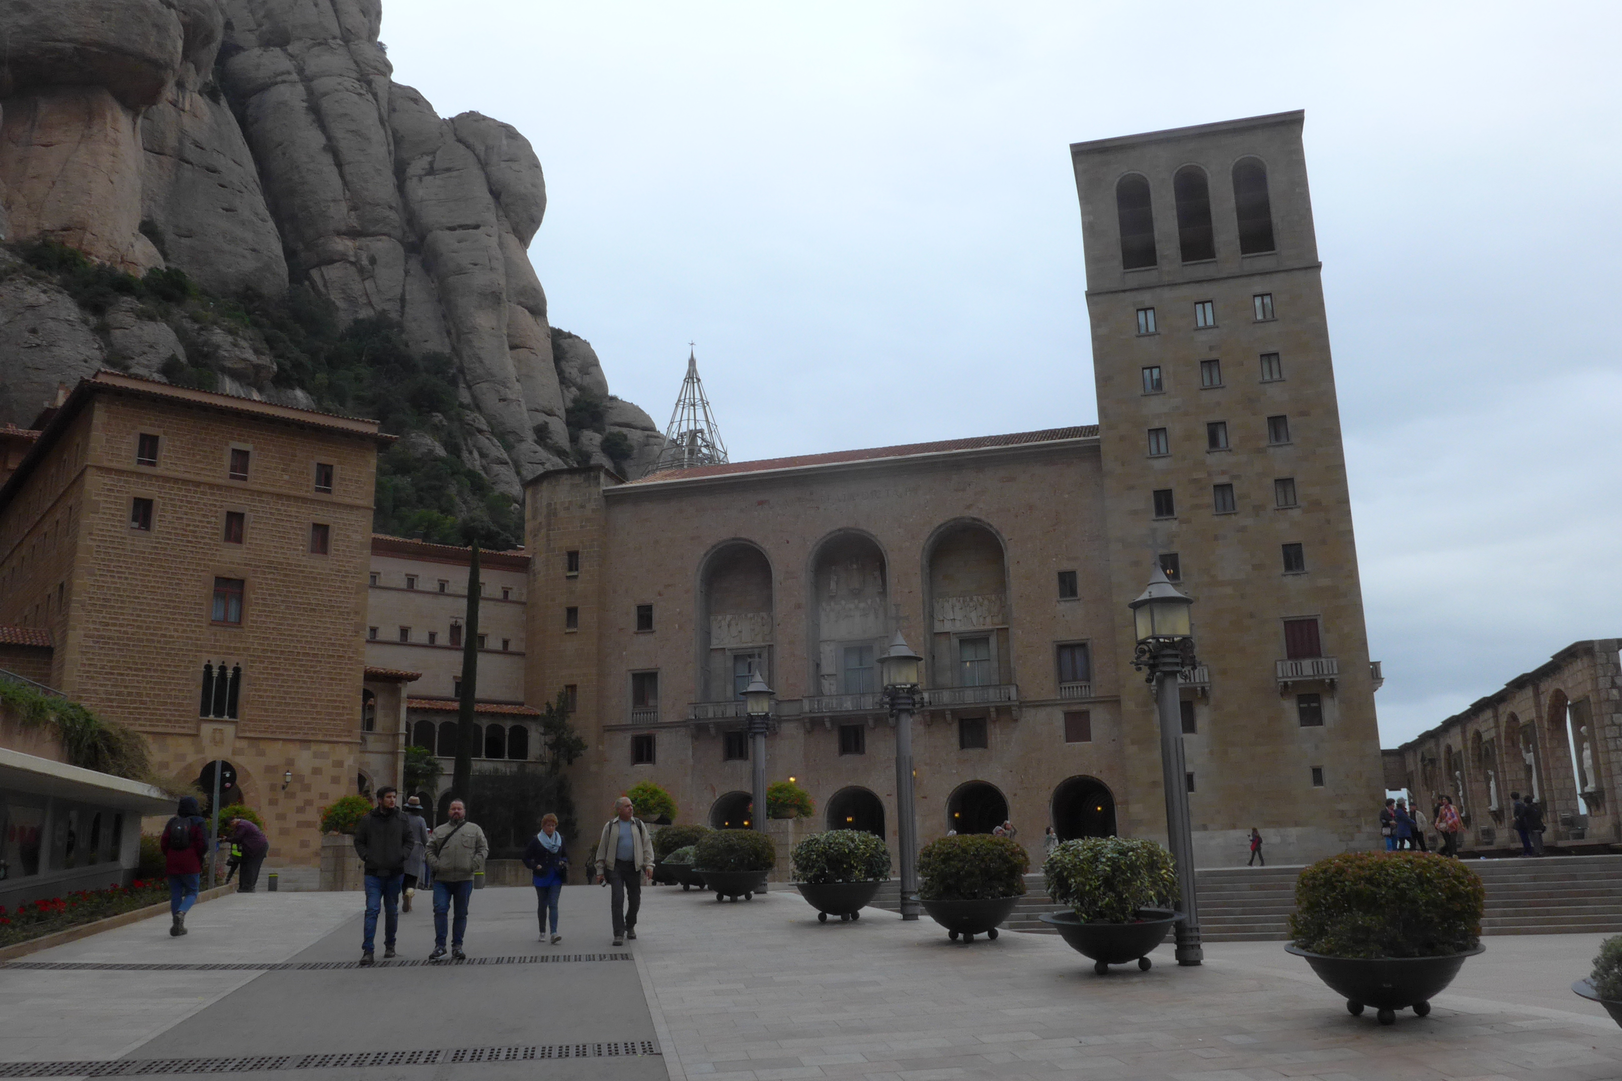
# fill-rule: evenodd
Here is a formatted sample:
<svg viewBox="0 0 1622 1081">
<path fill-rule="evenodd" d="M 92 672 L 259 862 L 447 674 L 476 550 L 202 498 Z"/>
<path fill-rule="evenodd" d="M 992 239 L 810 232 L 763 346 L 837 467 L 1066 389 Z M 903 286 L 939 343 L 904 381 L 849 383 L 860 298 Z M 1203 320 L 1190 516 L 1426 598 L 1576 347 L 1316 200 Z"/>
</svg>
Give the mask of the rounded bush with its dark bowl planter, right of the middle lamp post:
<svg viewBox="0 0 1622 1081">
<path fill-rule="evenodd" d="M 946 937 L 963 943 L 998 937 L 1025 893 L 1030 857 L 1006 836 L 965 833 L 929 841 L 918 852 L 918 899 Z"/>
</svg>

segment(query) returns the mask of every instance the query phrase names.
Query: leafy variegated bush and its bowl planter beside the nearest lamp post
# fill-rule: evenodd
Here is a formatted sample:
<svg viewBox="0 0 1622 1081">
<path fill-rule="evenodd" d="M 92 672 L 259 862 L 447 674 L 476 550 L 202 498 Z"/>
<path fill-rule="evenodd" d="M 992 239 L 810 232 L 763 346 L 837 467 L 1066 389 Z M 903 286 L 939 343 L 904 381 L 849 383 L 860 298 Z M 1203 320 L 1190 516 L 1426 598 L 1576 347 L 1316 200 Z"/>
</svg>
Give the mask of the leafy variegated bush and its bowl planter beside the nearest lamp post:
<svg viewBox="0 0 1622 1081">
<path fill-rule="evenodd" d="M 1174 912 L 1178 870 L 1171 852 L 1155 841 L 1126 836 L 1090 836 L 1066 841 L 1041 865 L 1048 896 L 1069 904 L 1069 912 L 1045 912 L 1040 919 L 1058 930 L 1093 971 L 1105 976 L 1111 964 L 1137 961 L 1148 971 L 1148 951 L 1166 940 L 1182 919 Z"/>
</svg>

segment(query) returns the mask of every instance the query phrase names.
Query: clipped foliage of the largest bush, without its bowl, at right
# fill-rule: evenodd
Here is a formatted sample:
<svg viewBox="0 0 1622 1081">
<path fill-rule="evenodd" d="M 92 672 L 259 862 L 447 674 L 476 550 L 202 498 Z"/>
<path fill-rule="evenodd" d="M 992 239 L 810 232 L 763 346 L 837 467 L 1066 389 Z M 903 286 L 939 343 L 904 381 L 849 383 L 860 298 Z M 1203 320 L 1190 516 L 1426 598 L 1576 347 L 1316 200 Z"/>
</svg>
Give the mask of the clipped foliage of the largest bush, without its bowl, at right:
<svg viewBox="0 0 1622 1081">
<path fill-rule="evenodd" d="M 1431 852 L 1343 852 L 1296 878 L 1289 937 L 1335 958 L 1437 958 L 1474 950 L 1486 890 Z"/>
</svg>

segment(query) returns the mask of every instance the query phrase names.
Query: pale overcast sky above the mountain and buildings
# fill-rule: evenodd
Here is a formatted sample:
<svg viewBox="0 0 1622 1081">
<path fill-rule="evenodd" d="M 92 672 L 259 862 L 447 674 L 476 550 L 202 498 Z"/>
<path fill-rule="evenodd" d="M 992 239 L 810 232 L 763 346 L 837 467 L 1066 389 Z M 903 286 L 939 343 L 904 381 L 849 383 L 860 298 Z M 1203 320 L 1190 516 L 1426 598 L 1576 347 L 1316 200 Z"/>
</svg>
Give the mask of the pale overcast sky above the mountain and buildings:
<svg viewBox="0 0 1622 1081">
<path fill-rule="evenodd" d="M 1069 144 L 1306 109 L 1385 746 L 1622 634 L 1616 3 L 383 0 L 551 323 L 733 460 L 1093 423 Z"/>
</svg>

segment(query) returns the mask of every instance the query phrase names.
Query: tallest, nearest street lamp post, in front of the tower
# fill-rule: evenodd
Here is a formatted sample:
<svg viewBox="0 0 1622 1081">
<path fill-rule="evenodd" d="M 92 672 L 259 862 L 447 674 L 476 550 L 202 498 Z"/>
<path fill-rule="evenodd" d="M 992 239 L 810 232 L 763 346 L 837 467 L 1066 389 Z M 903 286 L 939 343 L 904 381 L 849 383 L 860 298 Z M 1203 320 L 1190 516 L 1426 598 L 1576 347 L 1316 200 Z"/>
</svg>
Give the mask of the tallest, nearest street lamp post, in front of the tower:
<svg viewBox="0 0 1622 1081">
<path fill-rule="evenodd" d="M 1194 629 L 1189 608 L 1194 601 L 1166 580 L 1155 564 L 1144 595 L 1131 603 L 1137 622 L 1137 653 L 1132 668 L 1147 669 L 1145 682 L 1155 689 L 1160 713 L 1160 770 L 1166 788 L 1166 841 L 1178 864 L 1178 891 L 1182 921 L 1178 922 L 1178 964 L 1205 959 L 1200 946 L 1200 912 L 1194 887 L 1194 838 L 1189 827 L 1187 765 L 1182 757 L 1182 708 L 1178 677 L 1194 668 Z"/>
</svg>

